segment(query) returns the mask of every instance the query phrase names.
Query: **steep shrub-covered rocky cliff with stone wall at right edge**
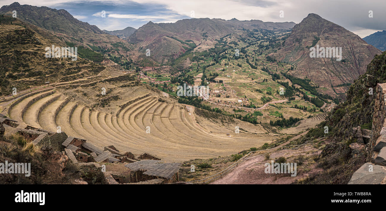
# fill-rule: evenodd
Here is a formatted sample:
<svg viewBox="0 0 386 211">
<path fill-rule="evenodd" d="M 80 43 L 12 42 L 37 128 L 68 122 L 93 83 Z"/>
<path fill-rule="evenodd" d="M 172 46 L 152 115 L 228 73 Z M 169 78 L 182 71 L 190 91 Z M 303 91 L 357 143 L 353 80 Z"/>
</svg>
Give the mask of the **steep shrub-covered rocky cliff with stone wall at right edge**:
<svg viewBox="0 0 386 211">
<path fill-rule="evenodd" d="M 384 182 L 385 93 L 386 52 L 374 57 L 366 73 L 350 86 L 345 102 L 337 105 L 323 123 L 332 134 L 331 143 L 318 162 L 323 173 L 310 177 L 308 183 Z"/>
</svg>

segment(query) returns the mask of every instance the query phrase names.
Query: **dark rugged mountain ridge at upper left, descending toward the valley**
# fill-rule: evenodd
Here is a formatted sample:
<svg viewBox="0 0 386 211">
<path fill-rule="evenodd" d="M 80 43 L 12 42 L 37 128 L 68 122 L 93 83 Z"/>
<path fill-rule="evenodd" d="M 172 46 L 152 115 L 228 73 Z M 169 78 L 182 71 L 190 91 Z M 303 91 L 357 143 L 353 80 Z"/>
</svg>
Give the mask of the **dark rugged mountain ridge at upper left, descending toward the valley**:
<svg viewBox="0 0 386 211">
<path fill-rule="evenodd" d="M 17 12 L 17 20 L 34 28 L 36 32 L 44 34 L 47 39 L 53 42 L 57 42 L 56 40 L 60 38 L 63 46 L 81 47 L 78 53 L 82 54 L 81 52 L 83 52 L 83 57 L 94 62 L 99 63 L 107 60 L 110 57 L 107 51 L 113 48 L 115 50 L 120 49 L 117 54 L 126 54 L 122 58 L 127 60 L 127 52 L 134 49 L 132 44 L 103 32 L 95 25 L 75 19 L 63 9 L 20 5 L 18 2 L 14 2 L 11 5 L 1 7 L 0 14 L 12 16 L 13 10 Z M 115 61 L 120 62 L 120 59 Z"/>
</svg>

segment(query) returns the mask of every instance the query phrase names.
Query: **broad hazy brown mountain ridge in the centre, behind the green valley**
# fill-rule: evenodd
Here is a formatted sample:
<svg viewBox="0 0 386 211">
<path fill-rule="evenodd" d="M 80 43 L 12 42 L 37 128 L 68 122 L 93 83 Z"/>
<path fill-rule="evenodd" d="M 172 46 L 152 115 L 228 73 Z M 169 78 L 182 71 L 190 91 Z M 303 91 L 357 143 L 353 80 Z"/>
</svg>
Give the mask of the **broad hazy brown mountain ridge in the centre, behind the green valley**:
<svg viewBox="0 0 386 211">
<path fill-rule="evenodd" d="M 171 57 L 178 57 L 196 45 L 196 50 L 214 47 L 216 39 L 242 32 L 244 29 L 268 29 L 289 30 L 295 25 L 294 22 L 262 22 L 261 20 L 237 19 L 183 19 L 175 23 L 148 22 L 139 27 L 129 38 L 130 43 L 137 44 L 139 51 L 150 49 L 151 55 L 159 62 Z M 181 42 L 182 41 L 182 42 Z M 189 41 L 190 44 L 186 44 Z M 184 43 L 185 42 L 185 43 Z"/>
</svg>

